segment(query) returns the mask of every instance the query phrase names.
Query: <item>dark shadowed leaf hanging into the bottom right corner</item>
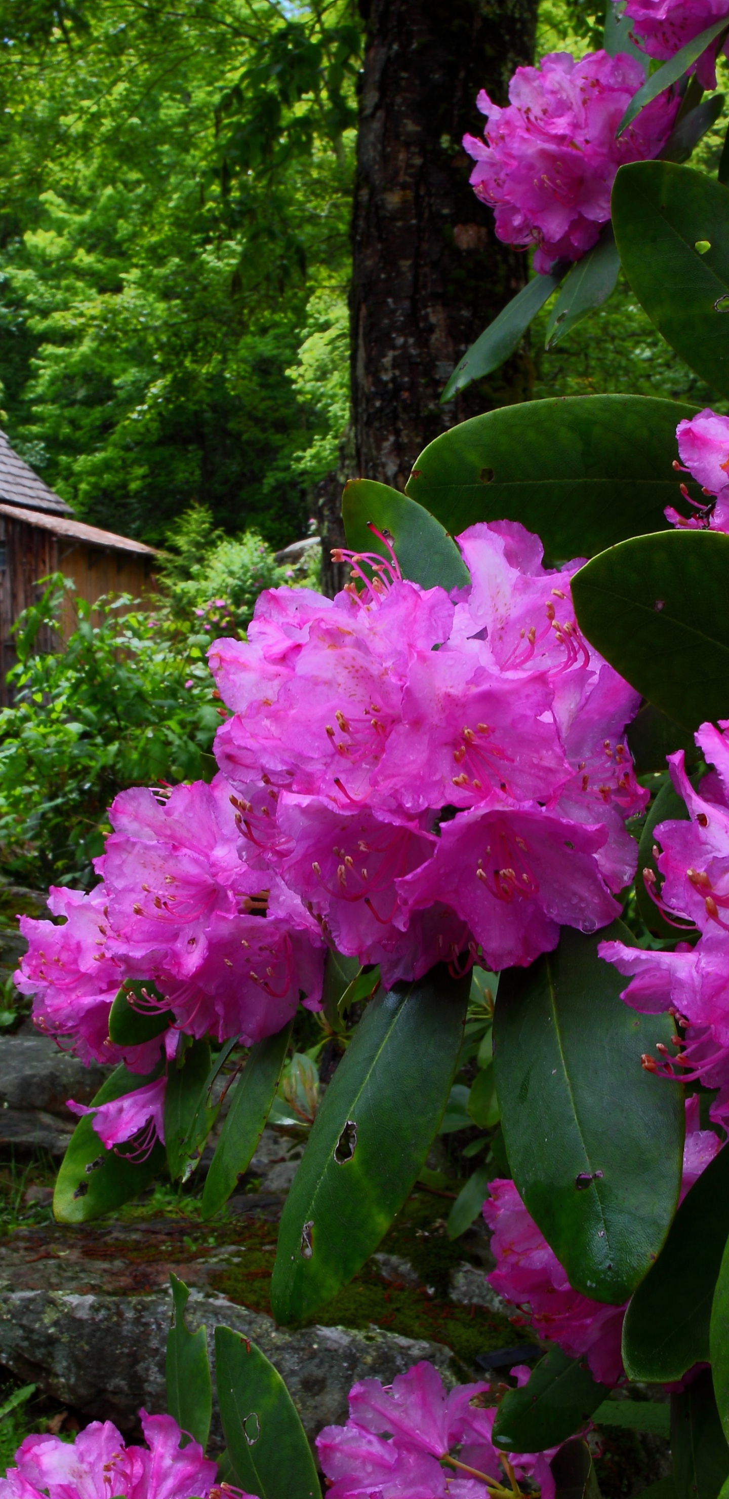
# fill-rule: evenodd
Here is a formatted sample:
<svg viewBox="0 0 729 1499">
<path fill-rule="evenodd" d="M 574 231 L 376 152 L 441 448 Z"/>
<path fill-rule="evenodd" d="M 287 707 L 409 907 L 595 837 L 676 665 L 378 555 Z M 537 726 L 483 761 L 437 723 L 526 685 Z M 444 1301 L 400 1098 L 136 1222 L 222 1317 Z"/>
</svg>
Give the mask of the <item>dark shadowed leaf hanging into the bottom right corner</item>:
<svg viewBox="0 0 729 1499">
<path fill-rule="evenodd" d="M 670 1397 L 670 1456 L 678 1499 L 718 1499 L 729 1475 L 729 1447 L 718 1420 L 711 1369 Z"/>
</svg>

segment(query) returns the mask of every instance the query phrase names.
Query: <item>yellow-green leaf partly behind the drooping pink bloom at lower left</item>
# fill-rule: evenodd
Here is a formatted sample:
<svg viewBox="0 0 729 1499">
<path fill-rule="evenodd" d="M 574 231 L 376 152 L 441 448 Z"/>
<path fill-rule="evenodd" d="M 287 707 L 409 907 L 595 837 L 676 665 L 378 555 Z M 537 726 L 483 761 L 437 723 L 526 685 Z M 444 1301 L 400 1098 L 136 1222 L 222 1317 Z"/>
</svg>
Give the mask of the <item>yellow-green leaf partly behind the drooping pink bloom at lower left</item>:
<svg viewBox="0 0 729 1499">
<path fill-rule="evenodd" d="M 124 1093 L 135 1093 L 156 1076 L 156 1070 L 140 1078 L 126 1067 L 117 1067 L 99 1088 L 93 1103 L 110 1103 Z M 144 1192 L 165 1162 L 165 1148 L 159 1141 L 147 1160 L 126 1160 L 124 1147 L 118 1147 L 118 1151 L 105 1150 L 93 1127 L 93 1115 L 86 1114 L 78 1121 L 56 1180 L 52 1211 L 58 1223 L 88 1223 L 102 1213 L 122 1207 Z"/>
</svg>

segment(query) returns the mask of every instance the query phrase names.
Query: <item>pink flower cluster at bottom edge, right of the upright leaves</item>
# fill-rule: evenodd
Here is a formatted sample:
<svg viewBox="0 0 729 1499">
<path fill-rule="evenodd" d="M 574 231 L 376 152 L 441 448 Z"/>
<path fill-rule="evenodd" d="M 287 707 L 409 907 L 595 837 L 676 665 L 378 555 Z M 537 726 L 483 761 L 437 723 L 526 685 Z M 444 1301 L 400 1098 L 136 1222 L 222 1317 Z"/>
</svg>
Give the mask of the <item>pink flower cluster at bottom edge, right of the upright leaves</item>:
<svg viewBox="0 0 729 1499">
<path fill-rule="evenodd" d="M 525 1366 L 512 1373 L 520 1385 L 530 1376 Z M 488 1391 L 488 1384 L 474 1384 L 446 1394 L 428 1363 L 398 1375 L 388 1390 L 380 1379 L 352 1385 L 346 1426 L 326 1426 L 316 1438 L 332 1484 L 327 1499 L 486 1499 L 474 1471 L 508 1486 L 502 1454 L 490 1441 L 496 1408 L 483 1403 Z M 536 1484 L 542 1499 L 555 1493 L 549 1468 L 555 1451 L 508 1454 L 516 1478 Z"/>
</svg>

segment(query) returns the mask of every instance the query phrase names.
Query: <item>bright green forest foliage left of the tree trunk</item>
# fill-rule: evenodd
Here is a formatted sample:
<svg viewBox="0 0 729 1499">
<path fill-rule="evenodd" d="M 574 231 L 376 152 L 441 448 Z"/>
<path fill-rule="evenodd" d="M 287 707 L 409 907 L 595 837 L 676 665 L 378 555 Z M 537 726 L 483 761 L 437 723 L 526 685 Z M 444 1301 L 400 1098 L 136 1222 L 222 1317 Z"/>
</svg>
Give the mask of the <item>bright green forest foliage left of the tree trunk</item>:
<svg viewBox="0 0 729 1499">
<path fill-rule="evenodd" d="M 226 531 L 296 540 L 318 477 L 300 454 L 326 459 L 346 418 L 342 376 L 333 400 L 330 372 L 321 393 L 297 375 L 322 288 L 340 325 L 356 33 L 328 7 L 292 36 L 237 0 L 100 0 L 74 22 L 10 6 L 14 31 L 6 9 L 10 441 L 100 525 L 159 541 L 198 501 Z"/>
</svg>

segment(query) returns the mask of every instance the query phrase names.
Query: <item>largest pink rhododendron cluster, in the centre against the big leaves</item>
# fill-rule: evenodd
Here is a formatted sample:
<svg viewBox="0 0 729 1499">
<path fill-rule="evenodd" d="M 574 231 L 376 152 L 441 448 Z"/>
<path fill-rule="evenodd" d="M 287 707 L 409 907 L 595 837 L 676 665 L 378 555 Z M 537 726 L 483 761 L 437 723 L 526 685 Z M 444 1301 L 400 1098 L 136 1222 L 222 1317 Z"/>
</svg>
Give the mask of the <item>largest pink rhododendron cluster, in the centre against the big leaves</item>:
<svg viewBox="0 0 729 1499">
<path fill-rule="evenodd" d="M 459 595 L 375 559 L 333 601 L 261 595 L 248 640 L 210 651 L 246 863 L 386 983 L 465 952 L 528 964 L 609 922 L 634 871 L 638 697 L 579 636 L 580 564 L 546 570 L 512 522 L 459 544 Z"/>
</svg>

